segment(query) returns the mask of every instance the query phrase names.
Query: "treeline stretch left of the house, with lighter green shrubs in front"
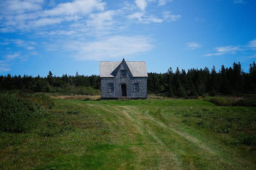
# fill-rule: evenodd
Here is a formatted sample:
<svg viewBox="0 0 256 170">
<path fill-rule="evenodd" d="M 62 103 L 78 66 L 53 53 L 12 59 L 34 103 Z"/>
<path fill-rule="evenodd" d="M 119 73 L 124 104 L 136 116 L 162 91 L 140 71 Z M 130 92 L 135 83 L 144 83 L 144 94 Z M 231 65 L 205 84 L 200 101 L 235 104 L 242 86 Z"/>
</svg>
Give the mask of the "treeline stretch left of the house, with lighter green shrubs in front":
<svg viewBox="0 0 256 170">
<path fill-rule="evenodd" d="M 57 92 L 60 94 L 100 94 L 100 77 L 84 76 L 76 72 L 75 76 L 63 74 L 53 76 L 49 71 L 47 77 L 33 76 L 0 76 L 0 90 L 22 90 L 26 92 Z"/>
</svg>

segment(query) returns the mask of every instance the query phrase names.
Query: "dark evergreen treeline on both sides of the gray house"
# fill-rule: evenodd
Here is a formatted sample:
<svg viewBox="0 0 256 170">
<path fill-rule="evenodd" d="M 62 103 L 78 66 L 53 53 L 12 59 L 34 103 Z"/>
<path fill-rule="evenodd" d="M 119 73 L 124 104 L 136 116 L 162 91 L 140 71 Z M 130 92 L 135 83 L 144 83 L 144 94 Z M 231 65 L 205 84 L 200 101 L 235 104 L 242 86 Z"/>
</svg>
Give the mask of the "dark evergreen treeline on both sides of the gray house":
<svg viewBox="0 0 256 170">
<path fill-rule="evenodd" d="M 0 90 L 22 90 L 29 92 L 57 92 L 61 94 L 99 95 L 100 77 L 84 76 L 76 72 L 75 76 L 63 74 L 53 76 L 50 71 L 47 77 L 0 76 Z M 175 72 L 169 68 L 166 73 L 148 73 L 148 93 L 164 94 L 169 97 L 197 97 L 209 94 L 256 93 L 256 64 L 250 64 L 249 72 L 242 70 L 241 64 L 232 67 L 221 66 L 216 71 L 192 68 Z"/>
</svg>

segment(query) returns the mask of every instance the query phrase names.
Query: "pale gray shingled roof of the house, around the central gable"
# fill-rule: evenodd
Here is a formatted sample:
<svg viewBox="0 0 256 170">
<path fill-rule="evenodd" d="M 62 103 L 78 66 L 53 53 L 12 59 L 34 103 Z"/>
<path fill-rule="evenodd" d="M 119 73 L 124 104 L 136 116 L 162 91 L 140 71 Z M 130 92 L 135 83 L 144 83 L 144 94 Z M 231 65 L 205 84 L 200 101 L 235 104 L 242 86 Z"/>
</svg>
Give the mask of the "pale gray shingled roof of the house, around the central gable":
<svg viewBox="0 0 256 170">
<path fill-rule="evenodd" d="M 123 61 L 133 77 L 148 77 L 146 61 Z M 122 62 L 100 62 L 100 77 L 115 77 Z"/>
</svg>

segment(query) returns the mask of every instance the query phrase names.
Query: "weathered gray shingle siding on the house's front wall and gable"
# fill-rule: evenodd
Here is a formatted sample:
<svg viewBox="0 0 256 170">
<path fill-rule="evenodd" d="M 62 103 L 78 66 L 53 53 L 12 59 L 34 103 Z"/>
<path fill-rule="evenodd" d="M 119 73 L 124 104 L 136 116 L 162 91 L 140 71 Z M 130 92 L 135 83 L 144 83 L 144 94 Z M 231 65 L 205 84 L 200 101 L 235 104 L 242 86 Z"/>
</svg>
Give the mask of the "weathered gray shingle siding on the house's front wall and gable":
<svg viewBox="0 0 256 170">
<path fill-rule="evenodd" d="M 126 78 L 121 77 L 121 70 L 126 70 Z M 114 83 L 114 92 L 108 92 L 108 84 Z M 139 92 L 134 92 L 134 83 L 139 83 Z M 120 97 L 120 84 L 126 84 L 127 96 L 133 99 L 147 98 L 147 77 L 132 77 L 126 64 L 121 64 L 116 77 L 100 78 L 101 98 Z"/>
</svg>

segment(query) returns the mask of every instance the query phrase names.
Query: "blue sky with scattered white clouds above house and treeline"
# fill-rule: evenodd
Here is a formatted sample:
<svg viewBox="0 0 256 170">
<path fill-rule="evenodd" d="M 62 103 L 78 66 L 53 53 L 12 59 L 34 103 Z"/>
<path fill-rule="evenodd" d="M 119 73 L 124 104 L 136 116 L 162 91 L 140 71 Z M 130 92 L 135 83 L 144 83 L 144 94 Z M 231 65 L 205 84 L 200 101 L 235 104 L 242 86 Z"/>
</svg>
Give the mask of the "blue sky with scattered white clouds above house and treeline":
<svg viewBox="0 0 256 170">
<path fill-rule="evenodd" d="M 148 72 L 256 61 L 254 0 L 0 0 L 0 74 L 99 74 L 99 61 Z"/>
</svg>

